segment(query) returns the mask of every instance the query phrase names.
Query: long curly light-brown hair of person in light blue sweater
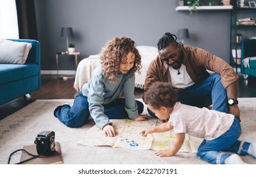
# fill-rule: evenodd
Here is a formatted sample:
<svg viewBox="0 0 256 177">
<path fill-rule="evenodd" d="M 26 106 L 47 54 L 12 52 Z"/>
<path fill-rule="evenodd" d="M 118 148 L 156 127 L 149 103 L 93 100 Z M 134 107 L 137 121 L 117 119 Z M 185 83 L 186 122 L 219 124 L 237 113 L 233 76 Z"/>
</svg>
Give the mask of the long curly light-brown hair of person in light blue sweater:
<svg viewBox="0 0 256 177">
<path fill-rule="evenodd" d="M 129 52 L 135 54 L 134 65 L 130 71 L 130 76 L 133 76 L 135 71 L 140 73 L 142 68 L 141 56 L 135 47 L 135 42 L 129 37 L 114 37 L 114 39 L 107 42 L 100 56 L 100 63 L 102 64 L 102 74 L 109 78 L 109 82 L 118 82 L 121 59 Z"/>
</svg>

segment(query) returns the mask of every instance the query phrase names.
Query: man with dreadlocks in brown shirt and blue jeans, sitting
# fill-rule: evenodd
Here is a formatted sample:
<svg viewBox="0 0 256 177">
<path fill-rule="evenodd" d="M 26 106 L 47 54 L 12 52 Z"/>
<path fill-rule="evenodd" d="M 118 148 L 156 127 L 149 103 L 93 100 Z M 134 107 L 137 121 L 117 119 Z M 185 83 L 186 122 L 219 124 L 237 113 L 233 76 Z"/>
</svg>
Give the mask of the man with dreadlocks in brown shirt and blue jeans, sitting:
<svg viewBox="0 0 256 177">
<path fill-rule="evenodd" d="M 213 110 L 239 119 L 238 75 L 226 61 L 203 49 L 184 46 L 169 32 L 157 45 L 159 55 L 149 65 L 144 92 L 154 82 L 172 82 L 179 102 L 197 107 L 212 105 Z"/>
</svg>

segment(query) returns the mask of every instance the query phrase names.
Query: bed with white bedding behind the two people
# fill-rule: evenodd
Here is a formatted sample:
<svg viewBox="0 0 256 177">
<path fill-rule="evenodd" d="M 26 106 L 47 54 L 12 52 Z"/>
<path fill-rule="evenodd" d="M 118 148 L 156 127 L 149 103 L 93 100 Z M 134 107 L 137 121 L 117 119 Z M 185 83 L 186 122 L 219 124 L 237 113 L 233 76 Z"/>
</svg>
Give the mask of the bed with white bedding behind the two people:
<svg viewBox="0 0 256 177">
<path fill-rule="evenodd" d="M 153 46 L 137 46 L 138 52 L 142 57 L 141 73 L 135 73 L 135 87 L 144 89 L 145 76 L 147 68 L 153 59 L 158 56 L 158 48 Z M 88 82 L 91 78 L 93 70 L 100 64 L 100 54 L 91 55 L 88 58 L 82 59 L 76 70 L 76 78 L 74 81 L 74 89 L 80 92 L 84 83 Z"/>
</svg>

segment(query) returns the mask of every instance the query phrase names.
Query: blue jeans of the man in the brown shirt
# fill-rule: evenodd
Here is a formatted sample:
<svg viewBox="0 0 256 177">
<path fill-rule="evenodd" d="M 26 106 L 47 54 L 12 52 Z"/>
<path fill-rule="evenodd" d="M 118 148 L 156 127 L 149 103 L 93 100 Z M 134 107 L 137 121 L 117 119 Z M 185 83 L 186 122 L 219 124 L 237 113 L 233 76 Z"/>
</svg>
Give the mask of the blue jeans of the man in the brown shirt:
<svg viewBox="0 0 256 177">
<path fill-rule="evenodd" d="M 205 80 L 191 85 L 179 92 L 177 101 L 196 107 L 208 107 L 227 113 L 227 92 L 220 82 L 220 75 L 213 73 Z M 147 109 L 151 116 L 156 117 L 152 111 Z"/>
</svg>

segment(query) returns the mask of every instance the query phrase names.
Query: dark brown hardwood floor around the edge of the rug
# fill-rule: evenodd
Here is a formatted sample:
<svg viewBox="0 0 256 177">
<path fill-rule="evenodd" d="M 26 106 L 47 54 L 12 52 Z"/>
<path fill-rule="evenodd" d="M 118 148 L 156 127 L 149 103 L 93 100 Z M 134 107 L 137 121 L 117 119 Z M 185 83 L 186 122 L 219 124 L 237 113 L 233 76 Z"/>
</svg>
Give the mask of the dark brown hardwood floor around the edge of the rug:
<svg viewBox="0 0 256 177">
<path fill-rule="evenodd" d="M 32 92 L 32 100 L 24 101 L 23 97 L 11 101 L 8 104 L 0 106 L 0 119 L 15 113 L 22 107 L 27 106 L 36 99 L 74 99 L 77 92 L 73 88 L 74 78 L 62 80 L 56 75 L 42 75 L 41 89 Z M 248 77 L 244 80 L 242 75 L 239 75 L 239 90 L 238 97 L 256 97 L 256 78 Z M 135 98 L 142 98 L 143 90 L 135 89 Z"/>
</svg>

